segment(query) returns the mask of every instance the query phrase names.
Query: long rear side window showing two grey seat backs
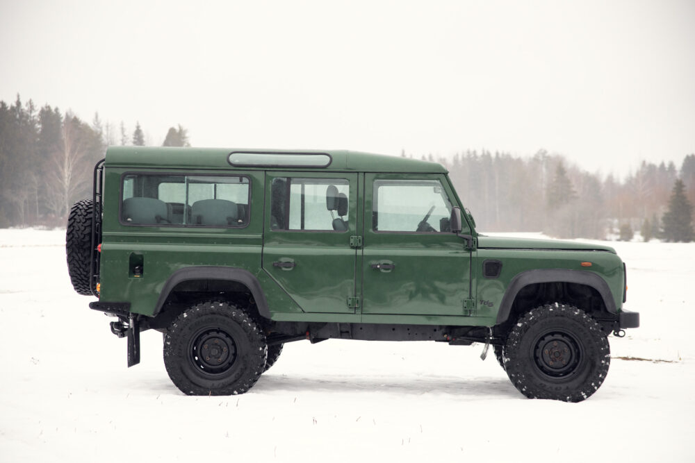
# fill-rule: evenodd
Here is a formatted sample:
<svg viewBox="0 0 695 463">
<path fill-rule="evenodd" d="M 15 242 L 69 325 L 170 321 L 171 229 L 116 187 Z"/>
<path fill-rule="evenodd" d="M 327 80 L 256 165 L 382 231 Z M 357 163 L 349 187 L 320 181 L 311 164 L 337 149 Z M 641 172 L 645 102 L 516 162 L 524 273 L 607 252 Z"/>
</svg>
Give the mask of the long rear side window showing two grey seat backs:
<svg viewBox="0 0 695 463">
<path fill-rule="evenodd" d="M 250 180 L 245 176 L 127 174 L 120 219 L 129 225 L 244 227 Z"/>
</svg>

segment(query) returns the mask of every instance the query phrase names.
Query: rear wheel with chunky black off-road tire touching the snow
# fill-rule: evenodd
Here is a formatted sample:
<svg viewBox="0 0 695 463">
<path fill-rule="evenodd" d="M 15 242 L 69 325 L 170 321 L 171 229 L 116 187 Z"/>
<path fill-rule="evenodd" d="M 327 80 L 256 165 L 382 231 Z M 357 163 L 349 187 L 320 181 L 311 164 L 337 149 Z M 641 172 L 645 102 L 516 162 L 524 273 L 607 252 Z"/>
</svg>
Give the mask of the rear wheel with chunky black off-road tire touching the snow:
<svg viewBox="0 0 695 463">
<path fill-rule="evenodd" d="M 164 366 L 189 396 L 243 394 L 265 368 L 265 335 L 240 308 L 224 302 L 194 305 L 164 337 Z"/>
</svg>

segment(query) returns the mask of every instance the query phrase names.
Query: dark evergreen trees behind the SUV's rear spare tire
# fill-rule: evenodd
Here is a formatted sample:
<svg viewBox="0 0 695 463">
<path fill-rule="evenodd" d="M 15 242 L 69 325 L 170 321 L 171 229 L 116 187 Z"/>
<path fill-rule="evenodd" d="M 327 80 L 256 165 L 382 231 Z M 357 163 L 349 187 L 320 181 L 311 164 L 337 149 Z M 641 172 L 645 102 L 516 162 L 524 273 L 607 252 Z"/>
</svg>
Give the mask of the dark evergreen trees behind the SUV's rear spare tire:
<svg viewBox="0 0 695 463">
<path fill-rule="evenodd" d="M 120 140 L 95 114 L 91 123 L 33 101 L 0 101 L 0 228 L 65 226 L 74 201 L 92 196 L 92 172 L 106 146 L 145 145 L 140 122 Z M 164 146 L 190 146 L 186 129 L 169 129 Z"/>
</svg>

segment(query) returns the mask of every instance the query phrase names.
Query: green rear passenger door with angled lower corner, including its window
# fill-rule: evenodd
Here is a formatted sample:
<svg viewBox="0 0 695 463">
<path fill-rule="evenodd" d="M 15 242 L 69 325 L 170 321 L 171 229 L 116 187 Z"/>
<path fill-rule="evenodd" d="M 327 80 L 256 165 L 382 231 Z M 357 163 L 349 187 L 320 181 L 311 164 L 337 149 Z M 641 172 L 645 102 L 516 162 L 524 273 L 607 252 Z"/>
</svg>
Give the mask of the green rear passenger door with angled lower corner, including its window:
<svg viewBox="0 0 695 463">
<path fill-rule="evenodd" d="M 263 269 L 304 312 L 354 313 L 357 174 L 268 172 Z"/>
</svg>

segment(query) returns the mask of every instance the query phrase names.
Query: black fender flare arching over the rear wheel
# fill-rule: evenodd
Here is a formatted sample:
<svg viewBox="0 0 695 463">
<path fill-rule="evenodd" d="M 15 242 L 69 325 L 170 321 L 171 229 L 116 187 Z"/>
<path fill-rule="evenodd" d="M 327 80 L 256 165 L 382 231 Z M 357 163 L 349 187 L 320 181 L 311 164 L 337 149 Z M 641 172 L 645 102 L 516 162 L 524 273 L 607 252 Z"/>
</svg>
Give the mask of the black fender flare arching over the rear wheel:
<svg viewBox="0 0 695 463">
<path fill-rule="evenodd" d="M 261 288 L 261 283 L 259 282 L 258 278 L 253 275 L 253 273 L 248 270 L 236 269 L 234 267 L 214 266 L 184 267 L 183 269 L 174 271 L 174 273 L 172 273 L 167 279 L 166 283 L 164 283 L 164 286 L 159 293 L 159 298 L 157 299 L 157 305 L 154 308 L 153 317 L 156 317 L 162 310 L 164 301 L 167 300 L 174 287 L 183 281 L 190 280 L 223 280 L 241 283 L 249 288 L 252 296 L 254 296 L 254 301 L 256 301 L 256 307 L 258 308 L 261 317 L 270 319 L 268 300 L 265 298 L 265 294 Z"/>
</svg>

